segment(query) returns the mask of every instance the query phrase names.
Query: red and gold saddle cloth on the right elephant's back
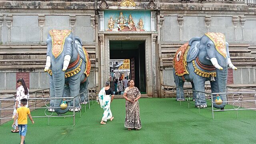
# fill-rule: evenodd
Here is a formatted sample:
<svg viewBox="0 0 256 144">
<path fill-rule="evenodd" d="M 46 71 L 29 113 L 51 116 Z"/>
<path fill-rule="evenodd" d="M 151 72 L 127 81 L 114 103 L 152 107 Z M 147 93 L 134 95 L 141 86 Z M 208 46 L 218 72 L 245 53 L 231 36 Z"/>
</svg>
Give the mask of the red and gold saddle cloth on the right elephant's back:
<svg viewBox="0 0 256 144">
<path fill-rule="evenodd" d="M 175 69 L 175 74 L 178 76 L 183 76 L 184 74 L 188 74 L 188 70 L 186 69 L 186 58 L 189 50 L 188 42 L 183 44 L 175 53 L 173 58 L 173 67 Z"/>
</svg>

